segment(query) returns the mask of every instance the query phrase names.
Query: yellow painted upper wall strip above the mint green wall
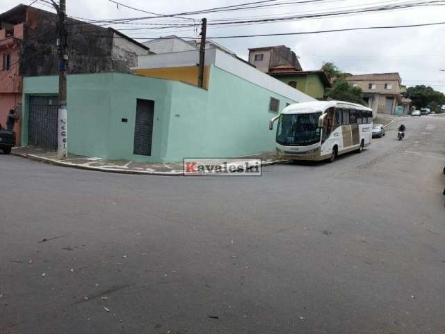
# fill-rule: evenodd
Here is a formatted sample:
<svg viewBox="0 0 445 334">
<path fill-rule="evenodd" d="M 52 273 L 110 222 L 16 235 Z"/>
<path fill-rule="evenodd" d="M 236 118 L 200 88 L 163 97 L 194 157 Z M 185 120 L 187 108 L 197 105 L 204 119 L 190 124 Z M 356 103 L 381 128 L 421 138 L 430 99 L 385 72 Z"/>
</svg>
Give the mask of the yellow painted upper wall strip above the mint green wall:
<svg viewBox="0 0 445 334">
<path fill-rule="evenodd" d="M 147 68 L 145 70 L 134 70 L 136 74 L 143 77 L 152 77 L 159 79 L 172 79 L 176 81 L 186 82 L 193 86 L 197 86 L 197 77 L 199 67 L 197 66 L 184 66 L 184 67 L 163 67 L 163 68 Z M 210 67 L 204 67 L 204 88 L 209 88 L 209 72 Z"/>
</svg>

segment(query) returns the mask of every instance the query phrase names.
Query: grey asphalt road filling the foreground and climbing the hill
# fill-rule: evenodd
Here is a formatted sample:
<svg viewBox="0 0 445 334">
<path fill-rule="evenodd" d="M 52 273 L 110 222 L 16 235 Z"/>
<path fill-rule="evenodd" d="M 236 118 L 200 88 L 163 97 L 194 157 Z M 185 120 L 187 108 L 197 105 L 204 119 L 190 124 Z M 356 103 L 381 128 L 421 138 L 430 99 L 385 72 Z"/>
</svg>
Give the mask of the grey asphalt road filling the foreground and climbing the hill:
<svg viewBox="0 0 445 334">
<path fill-rule="evenodd" d="M 0 333 L 445 333 L 445 118 L 403 122 L 262 177 L 0 155 Z"/>
</svg>

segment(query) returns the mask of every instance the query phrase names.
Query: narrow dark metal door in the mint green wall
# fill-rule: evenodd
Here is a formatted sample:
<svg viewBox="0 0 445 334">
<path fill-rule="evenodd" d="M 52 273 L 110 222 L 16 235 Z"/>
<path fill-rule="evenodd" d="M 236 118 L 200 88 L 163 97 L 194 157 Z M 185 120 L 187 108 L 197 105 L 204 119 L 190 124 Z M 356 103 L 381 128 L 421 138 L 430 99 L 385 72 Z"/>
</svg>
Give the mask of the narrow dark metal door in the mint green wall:
<svg viewBox="0 0 445 334">
<path fill-rule="evenodd" d="M 138 99 L 133 154 L 152 155 L 154 101 Z"/>
</svg>

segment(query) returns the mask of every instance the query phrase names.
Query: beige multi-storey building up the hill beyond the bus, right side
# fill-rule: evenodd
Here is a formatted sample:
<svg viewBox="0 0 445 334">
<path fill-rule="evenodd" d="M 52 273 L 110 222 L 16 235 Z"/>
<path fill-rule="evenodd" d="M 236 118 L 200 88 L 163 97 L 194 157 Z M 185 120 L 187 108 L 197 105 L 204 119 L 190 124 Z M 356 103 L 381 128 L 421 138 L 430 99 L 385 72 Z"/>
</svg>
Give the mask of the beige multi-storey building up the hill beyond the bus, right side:
<svg viewBox="0 0 445 334">
<path fill-rule="evenodd" d="M 362 88 L 365 101 L 377 113 L 394 115 L 397 106 L 403 106 L 407 100 L 402 100 L 401 77 L 398 73 L 359 74 L 346 77 L 346 81 L 353 86 Z M 408 107 L 409 108 L 409 107 Z"/>
</svg>

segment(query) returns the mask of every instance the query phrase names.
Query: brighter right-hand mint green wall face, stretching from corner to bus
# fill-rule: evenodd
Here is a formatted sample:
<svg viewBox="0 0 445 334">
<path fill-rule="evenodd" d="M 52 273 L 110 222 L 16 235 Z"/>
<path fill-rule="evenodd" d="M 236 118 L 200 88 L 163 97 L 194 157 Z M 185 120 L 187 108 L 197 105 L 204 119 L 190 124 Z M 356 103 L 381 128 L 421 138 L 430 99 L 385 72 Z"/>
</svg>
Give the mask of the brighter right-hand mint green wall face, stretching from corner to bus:
<svg viewBox="0 0 445 334">
<path fill-rule="evenodd" d="M 280 100 L 280 111 L 295 102 L 213 65 L 208 91 L 178 84 L 173 93 L 167 154 L 173 160 L 275 150 L 270 97 Z"/>
</svg>

